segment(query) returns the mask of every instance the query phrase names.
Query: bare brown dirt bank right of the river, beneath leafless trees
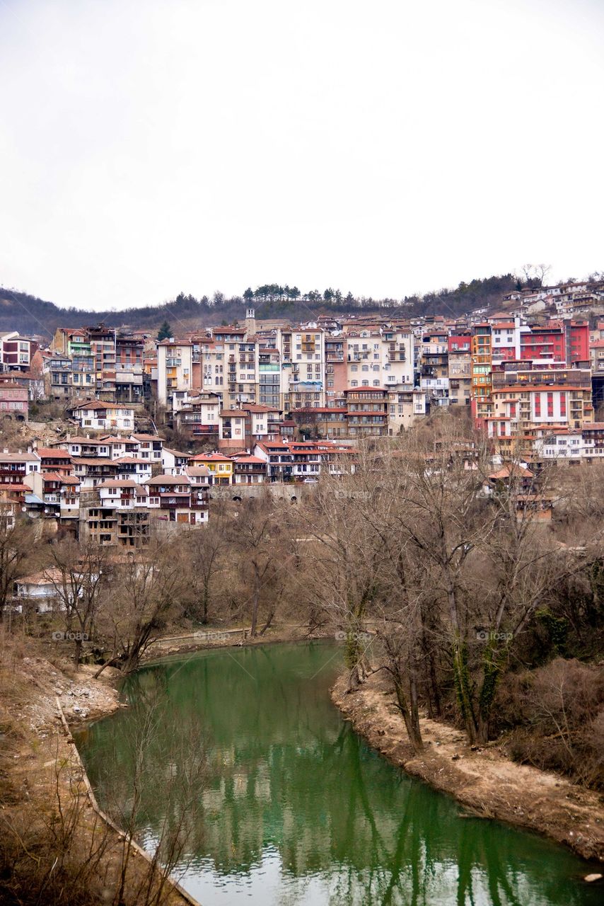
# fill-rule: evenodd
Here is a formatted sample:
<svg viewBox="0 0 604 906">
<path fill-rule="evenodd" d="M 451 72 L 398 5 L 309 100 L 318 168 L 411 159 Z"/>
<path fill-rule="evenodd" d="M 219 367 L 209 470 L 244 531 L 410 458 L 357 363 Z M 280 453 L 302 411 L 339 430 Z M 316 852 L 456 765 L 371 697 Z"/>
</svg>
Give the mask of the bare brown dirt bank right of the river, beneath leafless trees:
<svg viewBox="0 0 604 906">
<path fill-rule="evenodd" d="M 403 718 L 379 672 L 355 692 L 340 679 L 331 698 L 369 745 L 407 774 L 452 795 L 471 814 L 545 834 L 585 859 L 604 862 L 604 797 L 563 777 L 518 765 L 496 743 L 475 751 L 464 734 L 422 718 L 424 751 L 414 754 Z"/>
</svg>

